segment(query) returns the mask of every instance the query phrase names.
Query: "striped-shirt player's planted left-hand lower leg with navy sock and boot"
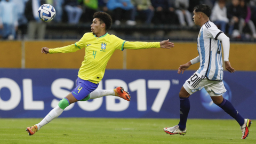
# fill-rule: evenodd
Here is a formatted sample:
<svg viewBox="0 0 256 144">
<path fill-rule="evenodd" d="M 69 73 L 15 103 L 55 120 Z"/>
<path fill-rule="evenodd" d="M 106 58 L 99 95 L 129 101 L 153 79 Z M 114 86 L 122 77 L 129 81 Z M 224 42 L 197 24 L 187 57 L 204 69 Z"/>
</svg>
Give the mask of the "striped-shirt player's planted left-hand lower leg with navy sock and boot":
<svg viewBox="0 0 256 144">
<path fill-rule="evenodd" d="M 189 102 L 190 94 L 187 90 L 182 86 L 179 97 L 180 97 L 180 122 L 178 125 L 173 127 L 165 127 L 164 131 L 169 134 L 180 134 L 185 135 L 187 133 L 186 123 L 188 119 L 188 113 L 190 110 L 190 102 Z"/>
</svg>

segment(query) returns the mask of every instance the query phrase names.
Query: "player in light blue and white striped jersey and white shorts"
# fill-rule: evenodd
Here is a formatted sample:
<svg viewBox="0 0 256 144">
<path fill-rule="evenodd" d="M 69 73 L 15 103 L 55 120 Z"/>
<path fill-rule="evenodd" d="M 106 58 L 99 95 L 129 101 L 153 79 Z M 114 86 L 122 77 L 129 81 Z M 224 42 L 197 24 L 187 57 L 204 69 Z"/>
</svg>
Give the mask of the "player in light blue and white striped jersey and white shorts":
<svg viewBox="0 0 256 144">
<path fill-rule="evenodd" d="M 241 126 L 242 139 L 246 139 L 249 135 L 250 119 L 244 119 L 233 105 L 222 97 L 227 90 L 223 85 L 223 68 L 222 68 L 222 52 L 223 46 L 224 61 L 226 69 L 230 73 L 234 73 L 235 69 L 231 67 L 228 61 L 229 57 L 229 38 L 220 31 L 217 26 L 209 20 L 211 9 L 205 4 L 197 5 L 194 8 L 195 25 L 201 26 L 197 38 L 197 50 L 199 56 L 181 65 L 178 74 L 184 73 L 190 65 L 200 62 L 200 67 L 181 87 L 180 97 L 180 122 L 173 127 L 165 127 L 164 131 L 169 134 L 185 135 L 187 132 L 186 123 L 190 109 L 189 96 L 203 87 L 210 94 L 212 101 L 221 107 L 231 117 L 235 118 Z"/>
</svg>

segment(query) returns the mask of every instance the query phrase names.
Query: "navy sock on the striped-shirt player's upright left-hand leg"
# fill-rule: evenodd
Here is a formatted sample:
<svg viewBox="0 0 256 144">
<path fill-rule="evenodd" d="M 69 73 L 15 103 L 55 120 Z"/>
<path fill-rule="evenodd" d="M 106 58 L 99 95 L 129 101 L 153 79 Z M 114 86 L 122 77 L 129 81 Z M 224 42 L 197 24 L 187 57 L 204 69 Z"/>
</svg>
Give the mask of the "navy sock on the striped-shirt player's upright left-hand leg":
<svg viewBox="0 0 256 144">
<path fill-rule="evenodd" d="M 189 99 L 180 98 L 180 123 L 178 125 L 181 131 L 186 129 L 189 109 L 190 109 Z"/>
</svg>

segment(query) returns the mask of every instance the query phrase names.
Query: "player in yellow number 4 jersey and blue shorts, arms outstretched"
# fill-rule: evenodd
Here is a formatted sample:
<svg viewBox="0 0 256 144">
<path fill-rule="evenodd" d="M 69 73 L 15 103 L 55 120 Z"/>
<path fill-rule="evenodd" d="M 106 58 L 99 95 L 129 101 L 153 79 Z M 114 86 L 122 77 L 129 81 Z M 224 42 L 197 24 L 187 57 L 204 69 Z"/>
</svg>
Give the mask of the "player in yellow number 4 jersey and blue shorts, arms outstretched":
<svg viewBox="0 0 256 144">
<path fill-rule="evenodd" d="M 42 126 L 58 117 L 71 103 L 100 98 L 106 95 L 116 95 L 130 101 L 130 95 L 126 93 L 122 87 L 117 87 L 114 91 L 94 91 L 97 89 L 99 82 L 103 78 L 108 60 L 115 50 L 123 51 L 124 49 L 148 49 L 153 47 L 171 49 L 171 47 L 174 47 L 174 44 L 169 42 L 169 39 L 154 43 L 126 42 L 115 35 L 109 35 L 107 33 L 107 30 L 111 25 L 112 20 L 109 14 L 105 12 L 96 12 L 93 15 L 91 25 L 92 33 L 85 33 L 80 41 L 72 45 L 55 49 L 49 49 L 47 47 L 42 48 L 42 53 L 45 54 L 76 52 L 85 48 L 85 57 L 78 72 L 77 87 L 63 98 L 58 106 L 52 109 L 40 123 L 27 127 L 26 131 L 29 135 L 35 134 L 35 132 L 41 129 Z"/>
</svg>

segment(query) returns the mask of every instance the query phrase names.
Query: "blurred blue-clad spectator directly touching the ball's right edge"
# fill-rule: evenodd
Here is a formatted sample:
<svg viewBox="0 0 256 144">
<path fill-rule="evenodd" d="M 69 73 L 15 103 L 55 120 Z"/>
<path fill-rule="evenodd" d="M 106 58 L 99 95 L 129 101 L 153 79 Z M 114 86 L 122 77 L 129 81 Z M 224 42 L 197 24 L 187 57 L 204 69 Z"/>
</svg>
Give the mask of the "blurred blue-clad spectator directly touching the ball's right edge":
<svg viewBox="0 0 256 144">
<path fill-rule="evenodd" d="M 52 6 L 54 7 L 56 11 L 56 15 L 54 17 L 55 22 L 61 22 L 62 21 L 62 4 L 64 3 L 64 0 L 53 0 Z"/>
</svg>

